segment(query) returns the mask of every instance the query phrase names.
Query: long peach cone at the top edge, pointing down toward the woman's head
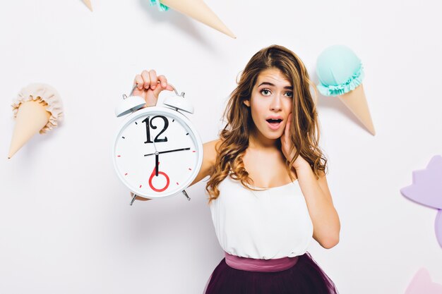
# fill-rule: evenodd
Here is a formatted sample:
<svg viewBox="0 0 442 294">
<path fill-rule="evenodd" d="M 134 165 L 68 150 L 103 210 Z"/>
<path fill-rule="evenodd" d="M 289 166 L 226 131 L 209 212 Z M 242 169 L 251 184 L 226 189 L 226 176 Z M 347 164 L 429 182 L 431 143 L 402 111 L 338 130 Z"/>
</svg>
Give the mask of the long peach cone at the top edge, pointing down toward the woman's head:
<svg viewBox="0 0 442 294">
<path fill-rule="evenodd" d="M 183 13 L 186 16 L 198 20 L 200 23 L 204 23 L 209 27 L 213 27 L 225 35 L 236 39 L 235 35 L 229 30 L 229 28 L 222 23 L 220 18 L 205 4 L 202 0 L 156 0 L 160 1 L 160 4 L 168 6 L 169 8 Z M 156 2 L 155 1 L 155 2 Z"/>
</svg>

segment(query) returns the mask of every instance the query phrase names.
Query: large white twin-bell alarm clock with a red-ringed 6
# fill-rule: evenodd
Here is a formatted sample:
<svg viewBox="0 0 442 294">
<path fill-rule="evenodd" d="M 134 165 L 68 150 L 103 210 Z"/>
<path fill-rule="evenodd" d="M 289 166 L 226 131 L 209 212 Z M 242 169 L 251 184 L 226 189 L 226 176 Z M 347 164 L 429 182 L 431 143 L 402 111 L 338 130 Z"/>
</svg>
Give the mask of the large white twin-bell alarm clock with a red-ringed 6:
<svg viewBox="0 0 442 294">
<path fill-rule="evenodd" d="M 173 87 L 173 86 L 172 86 Z M 173 87 L 174 88 L 174 87 Z M 160 198 L 186 191 L 203 162 L 203 144 L 182 113 L 193 113 L 184 93 L 168 97 L 162 105 L 141 109 L 145 100 L 123 95 L 115 109 L 117 116 L 130 114 L 120 125 L 114 139 L 112 156 L 119 179 L 134 196 Z"/>
</svg>

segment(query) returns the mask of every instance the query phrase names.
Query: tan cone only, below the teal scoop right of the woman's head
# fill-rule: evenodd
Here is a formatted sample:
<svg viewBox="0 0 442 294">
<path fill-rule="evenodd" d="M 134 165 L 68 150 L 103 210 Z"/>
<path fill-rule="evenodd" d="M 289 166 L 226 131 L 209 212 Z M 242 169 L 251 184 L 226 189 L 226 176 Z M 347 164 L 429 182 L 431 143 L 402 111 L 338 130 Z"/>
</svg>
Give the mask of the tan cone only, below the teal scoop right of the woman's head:
<svg viewBox="0 0 442 294">
<path fill-rule="evenodd" d="M 376 135 L 373 121 L 371 121 L 369 105 L 366 102 L 365 92 L 362 85 L 356 89 L 338 96 L 359 121 L 369 130 L 371 135 Z"/>
</svg>

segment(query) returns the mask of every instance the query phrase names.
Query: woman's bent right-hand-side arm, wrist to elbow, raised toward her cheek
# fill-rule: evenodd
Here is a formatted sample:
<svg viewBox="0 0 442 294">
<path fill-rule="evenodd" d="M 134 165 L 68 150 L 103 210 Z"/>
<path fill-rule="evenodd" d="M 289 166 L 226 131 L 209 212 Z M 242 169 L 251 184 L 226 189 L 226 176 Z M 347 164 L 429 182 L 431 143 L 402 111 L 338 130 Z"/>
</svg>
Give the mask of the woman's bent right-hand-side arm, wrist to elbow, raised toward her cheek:
<svg viewBox="0 0 442 294">
<path fill-rule="evenodd" d="M 316 179 L 305 160 L 294 168 L 313 222 L 313 238 L 324 248 L 334 247 L 339 242 L 340 221 L 325 174 Z"/>
</svg>

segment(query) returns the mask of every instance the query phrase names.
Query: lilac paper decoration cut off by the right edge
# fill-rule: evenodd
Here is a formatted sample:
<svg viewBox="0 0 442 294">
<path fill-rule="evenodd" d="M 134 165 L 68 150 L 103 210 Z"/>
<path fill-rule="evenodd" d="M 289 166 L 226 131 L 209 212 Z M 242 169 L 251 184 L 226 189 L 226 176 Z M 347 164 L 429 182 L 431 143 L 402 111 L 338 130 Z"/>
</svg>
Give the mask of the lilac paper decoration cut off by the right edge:
<svg viewBox="0 0 442 294">
<path fill-rule="evenodd" d="M 400 190 L 408 199 L 438 209 L 434 225 L 436 238 L 442 247 L 442 157 L 433 157 L 426 169 L 413 171 L 412 185 Z"/>
</svg>

